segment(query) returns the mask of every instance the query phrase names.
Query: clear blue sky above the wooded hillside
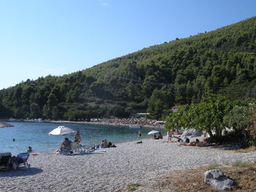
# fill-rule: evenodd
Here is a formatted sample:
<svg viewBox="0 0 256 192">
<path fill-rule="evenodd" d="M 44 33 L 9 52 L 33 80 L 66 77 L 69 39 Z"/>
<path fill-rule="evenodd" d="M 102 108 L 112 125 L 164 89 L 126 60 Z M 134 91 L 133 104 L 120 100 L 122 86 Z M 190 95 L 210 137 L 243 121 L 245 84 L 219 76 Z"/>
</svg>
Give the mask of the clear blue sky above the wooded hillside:
<svg viewBox="0 0 256 192">
<path fill-rule="evenodd" d="M 0 0 L 0 89 L 255 15 L 255 0 Z"/>
</svg>

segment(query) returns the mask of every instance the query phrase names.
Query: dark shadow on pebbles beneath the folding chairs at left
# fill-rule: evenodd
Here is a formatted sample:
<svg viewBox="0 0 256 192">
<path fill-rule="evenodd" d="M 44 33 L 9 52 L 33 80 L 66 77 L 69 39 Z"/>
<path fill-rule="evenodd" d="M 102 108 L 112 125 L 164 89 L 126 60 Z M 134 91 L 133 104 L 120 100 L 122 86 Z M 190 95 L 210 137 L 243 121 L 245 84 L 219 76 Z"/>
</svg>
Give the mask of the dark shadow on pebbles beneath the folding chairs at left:
<svg viewBox="0 0 256 192">
<path fill-rule="evenodd" d="M 34 175 L 42 172 L 42 169 L 31 167 L 29 169 L 16 169 L 16 170 L 6 170 L 0 171 L 1 177 L 22 177 L 27 175 Z"/>
</svg>

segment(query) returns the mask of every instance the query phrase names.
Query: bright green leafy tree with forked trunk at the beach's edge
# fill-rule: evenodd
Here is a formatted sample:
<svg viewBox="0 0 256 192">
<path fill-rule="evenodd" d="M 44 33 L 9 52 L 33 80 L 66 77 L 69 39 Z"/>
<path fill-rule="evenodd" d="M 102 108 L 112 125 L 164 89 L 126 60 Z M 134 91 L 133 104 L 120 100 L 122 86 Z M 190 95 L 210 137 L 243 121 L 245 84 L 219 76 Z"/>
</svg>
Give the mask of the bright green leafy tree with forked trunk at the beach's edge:
<svg viewBox="0 0 256 192">
<path fill-rule="evenodd" d="M 185 105 L 167 117 L 167 127 L 196 128 L 207 131 L 210 137 L 214 137 L 214 131 L 217 137 L 221 137 L 225 125 L 223 118 L 227 110 L 230 110 L 230 103 L 219 100 Z"/>
</svg>

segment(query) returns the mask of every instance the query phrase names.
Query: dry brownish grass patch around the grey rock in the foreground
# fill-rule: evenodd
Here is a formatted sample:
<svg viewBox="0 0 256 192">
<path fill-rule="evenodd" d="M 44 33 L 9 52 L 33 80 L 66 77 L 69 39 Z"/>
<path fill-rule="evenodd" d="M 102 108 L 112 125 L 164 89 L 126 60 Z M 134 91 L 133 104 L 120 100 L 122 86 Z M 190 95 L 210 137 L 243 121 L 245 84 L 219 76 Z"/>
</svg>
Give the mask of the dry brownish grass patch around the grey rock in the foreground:
<svg viewBox="0 0 256 192">
<path fill-rule="evenodd" d="M 220 169 L 234 180 L 231 191 L 256 191 L 256 162 L 255 164 L 246 164 L 239 161 L 235 165 L 226 168 L 219 168 L 216 164 L 200 167 L 199 169 L 172 172 L 168 177 L 159 178 L 153 187 L 140 186 L 135 191 L 213 192 L 216 191 L 214 188 L 203 183 L 204 172 L 212 168 Z"/>
</svg>

